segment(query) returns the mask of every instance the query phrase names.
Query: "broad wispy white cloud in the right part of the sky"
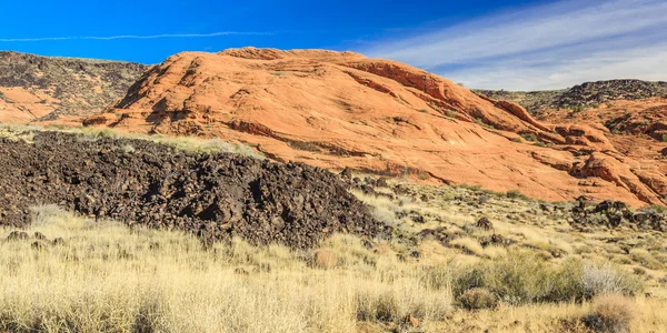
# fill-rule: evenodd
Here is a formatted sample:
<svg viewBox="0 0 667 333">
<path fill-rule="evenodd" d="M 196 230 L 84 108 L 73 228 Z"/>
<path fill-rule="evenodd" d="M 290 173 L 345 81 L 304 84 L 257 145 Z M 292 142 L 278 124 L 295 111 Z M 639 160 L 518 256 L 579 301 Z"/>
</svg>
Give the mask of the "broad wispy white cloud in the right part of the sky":
<svg viewBox="0 0 667 333">
<path fill-rule="evenodd" d="M 667 1 L 559 1 L 379 42 L 365 51 L 476 88 L 667 80 Z"/>
</svg>

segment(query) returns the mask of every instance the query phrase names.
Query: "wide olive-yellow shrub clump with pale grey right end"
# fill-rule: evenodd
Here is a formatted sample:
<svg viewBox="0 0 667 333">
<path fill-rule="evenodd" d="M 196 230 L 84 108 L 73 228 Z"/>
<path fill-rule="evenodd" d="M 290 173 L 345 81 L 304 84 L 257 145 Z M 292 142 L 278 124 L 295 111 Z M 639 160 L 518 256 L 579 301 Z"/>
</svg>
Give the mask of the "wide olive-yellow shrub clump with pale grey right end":
<svg viewBox="0 0 667 333">
<path fill-rule="evenodd" d="M 546 261 L 529 251 L 510 251 L 488 262 L 457 269 L 451 278 L 452 294 L 485 287 L 510 304 L 584 301 L 607 294 L 635 295 L 641 282 L 610 264 L 569 260 Z"/>
</svg>

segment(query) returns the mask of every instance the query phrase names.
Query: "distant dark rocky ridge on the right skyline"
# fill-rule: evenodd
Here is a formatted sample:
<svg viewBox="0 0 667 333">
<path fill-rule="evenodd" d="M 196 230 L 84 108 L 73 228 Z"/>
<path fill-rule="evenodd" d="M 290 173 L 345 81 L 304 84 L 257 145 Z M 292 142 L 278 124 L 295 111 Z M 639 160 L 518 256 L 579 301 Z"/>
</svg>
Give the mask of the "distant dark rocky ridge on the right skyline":
<svg viewBox="0 0 667 333">
<path fill-rule="evenodd" d="M 531 113 L 542 109 L 577 109 L 596 107 L 617 100 L 641 100 L 667 97 L 667 82 L 641 80 L 609 80 L 586 82 L 564 90 L 550 91 L 505 91 L 475 90 L 496 100 L 521 104 Z"/>
</svg>

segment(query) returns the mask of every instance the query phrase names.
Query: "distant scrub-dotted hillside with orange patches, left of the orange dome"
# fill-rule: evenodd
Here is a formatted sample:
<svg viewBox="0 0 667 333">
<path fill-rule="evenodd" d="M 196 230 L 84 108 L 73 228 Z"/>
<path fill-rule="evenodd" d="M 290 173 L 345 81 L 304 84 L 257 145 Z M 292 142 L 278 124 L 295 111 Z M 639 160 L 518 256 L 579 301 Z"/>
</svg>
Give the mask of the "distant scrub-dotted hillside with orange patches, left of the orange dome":
<svg viewBox="0 0 667 333">
<path fill-rule="evenodd" d="M 100 112 L 145 70 L 139 63 L 0 52 L 0 122 Z"/>
</svg>

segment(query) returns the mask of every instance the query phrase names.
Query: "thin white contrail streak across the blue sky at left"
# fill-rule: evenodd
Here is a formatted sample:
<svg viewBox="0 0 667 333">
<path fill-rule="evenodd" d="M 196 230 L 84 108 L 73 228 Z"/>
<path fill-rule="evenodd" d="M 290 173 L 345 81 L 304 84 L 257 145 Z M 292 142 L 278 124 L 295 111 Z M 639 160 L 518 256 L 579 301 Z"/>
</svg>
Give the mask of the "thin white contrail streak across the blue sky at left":
<svg viewBox="0 0 667 333">
<path fill-rule="evenodd" d="M 159 38 L 209 38 L 219 36 L 272 36 L 276 32 L 219 31 L 211 33 L 162 33 L 162 34 L 121 34 L 109 37 L 72 36 L 72 37 L 40 37 L 40 38 L 0 38 L 0 42 L 40 42 L 60 40 L 115 40 L 115 39 L 159 39 Z"/>
</svg>

